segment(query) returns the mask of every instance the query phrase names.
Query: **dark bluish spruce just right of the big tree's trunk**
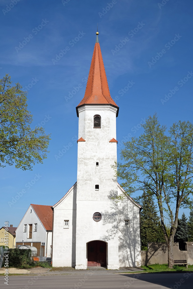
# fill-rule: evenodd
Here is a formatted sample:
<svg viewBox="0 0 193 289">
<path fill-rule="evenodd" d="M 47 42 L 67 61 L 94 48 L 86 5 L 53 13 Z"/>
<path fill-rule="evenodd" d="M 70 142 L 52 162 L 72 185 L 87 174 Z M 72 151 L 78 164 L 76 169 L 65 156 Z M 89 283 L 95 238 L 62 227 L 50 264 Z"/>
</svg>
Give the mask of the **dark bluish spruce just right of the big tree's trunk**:
<svg viewBox="0 0 193 289">
<path fill-rule="evenodd" d="M 178 219 L 178 226 L 176 230 L 176 234 L 174 236 L 174 239 L 176 239 L 176 242 L 179 242 L 180 248 L 184 248 L 183 242 L 188 241 L 188 224 L 185 214 L 182 214 L 181 219 Z"/>
</svg>

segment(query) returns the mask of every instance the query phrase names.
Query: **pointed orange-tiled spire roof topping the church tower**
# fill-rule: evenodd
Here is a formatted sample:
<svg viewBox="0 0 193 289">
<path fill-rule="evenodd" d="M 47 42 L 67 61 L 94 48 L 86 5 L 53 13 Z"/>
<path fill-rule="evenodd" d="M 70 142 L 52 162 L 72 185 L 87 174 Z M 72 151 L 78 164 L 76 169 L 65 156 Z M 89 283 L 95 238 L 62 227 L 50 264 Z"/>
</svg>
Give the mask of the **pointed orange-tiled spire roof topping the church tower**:
<svg viewBox="0 0 193 289">
<path fill-rule="evenodd" d="M 76 107 L 76 113 L 78 116 L 78 108 L 83 105 L 112 105 L 117 108 L 117 114 L 119 107 L 111 98 L 109 92 L 109 86 L 106 79 L 106 73 L 104 69 L 104 63 L 102 60 L 102 54 L 98 41 L 98 32 L 96 32 L 97 38 L 95 42 L 93 57 L 91 61 L 91 67 L 89 71 L 89 77 L 87 81 L 87 87 L 83 99 Z"/>
</svg>

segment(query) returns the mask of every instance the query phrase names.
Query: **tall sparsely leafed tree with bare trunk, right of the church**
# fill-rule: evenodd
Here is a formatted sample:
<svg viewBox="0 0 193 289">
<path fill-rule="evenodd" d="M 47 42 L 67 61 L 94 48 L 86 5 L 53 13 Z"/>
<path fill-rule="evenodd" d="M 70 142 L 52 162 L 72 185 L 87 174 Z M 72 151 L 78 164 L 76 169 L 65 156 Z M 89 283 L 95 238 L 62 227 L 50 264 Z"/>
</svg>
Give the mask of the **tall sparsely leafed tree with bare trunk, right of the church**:
<svg viewBox="0 0 193 289">
<path fill-rule="evenodd" d="M 125 143 L 121 151 L 123 163 L 115 164 L 114 168 L 129 195 L 138 190 L 154 194 L 168 247 L 168 266 L 172 268 L 179 208 L 192 206 L 193 125 L 179 121 L 166 134 L 166 127 L 160 126 L 154 114 L 142 126 L 144 133 Z"/>
</svg>

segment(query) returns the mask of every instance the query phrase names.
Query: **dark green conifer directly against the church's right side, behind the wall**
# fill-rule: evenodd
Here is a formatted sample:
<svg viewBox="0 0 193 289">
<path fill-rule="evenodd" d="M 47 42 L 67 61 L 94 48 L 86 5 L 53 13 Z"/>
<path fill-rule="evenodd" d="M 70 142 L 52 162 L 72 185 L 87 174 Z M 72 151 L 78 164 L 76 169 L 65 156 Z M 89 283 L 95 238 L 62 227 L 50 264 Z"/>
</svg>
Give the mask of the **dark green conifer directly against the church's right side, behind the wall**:
<svg viewBox="0 0 193 289">
<path fill-rule="evenodd" d="M 165 242 L 159 216 L 152 195 L 143 192 L 138 201 L 142 206 L 141 218 L 141 248 L 148 247 L 148 242 Z"/>
</svg>

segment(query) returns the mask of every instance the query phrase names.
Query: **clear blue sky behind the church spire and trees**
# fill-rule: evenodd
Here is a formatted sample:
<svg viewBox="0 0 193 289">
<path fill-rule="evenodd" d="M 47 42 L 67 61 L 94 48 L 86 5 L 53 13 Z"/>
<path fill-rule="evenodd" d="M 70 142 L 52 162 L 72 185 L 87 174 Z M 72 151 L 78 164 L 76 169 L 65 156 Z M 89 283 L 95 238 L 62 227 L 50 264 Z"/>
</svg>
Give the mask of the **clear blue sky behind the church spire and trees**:
<svg viewBox="0 0 193 289">
<path fill-rule="evenodd" d="M 30 203 L 54 205 L 76 182 L 76 106 L 84 96 L 97 23 L 111 97 L 120 107 L 117 157 L 121 140 L 139 136 L 140 122 L 154 112 L 167 127 L 193 122 L 192 8 L 190 0 L 0 1 L 0 76 L 9 73 L 13 84 L 26 87 L 32 127 L 41 123 L 52 138 L 47 159 L 32 171 L 0 168 L 0 226 L 17 226 Z M 170 90 L 175 93 L 167 97 Z M 182 209 L 179 216 L 183 211 L 189 214 Z"/>
</svg>

